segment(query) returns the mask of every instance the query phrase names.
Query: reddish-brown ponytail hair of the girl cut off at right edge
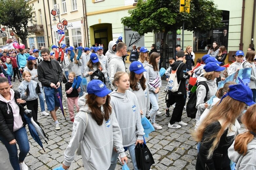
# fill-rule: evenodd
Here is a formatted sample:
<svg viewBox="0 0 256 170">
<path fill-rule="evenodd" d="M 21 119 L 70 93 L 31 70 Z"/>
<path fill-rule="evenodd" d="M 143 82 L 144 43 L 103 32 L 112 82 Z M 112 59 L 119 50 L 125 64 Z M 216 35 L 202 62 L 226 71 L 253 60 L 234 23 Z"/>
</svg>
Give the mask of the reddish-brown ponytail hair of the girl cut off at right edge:
<svg viewBox="0 0 256 170">
<path fill-rule="evenodd" d="M 234 149 L 240 154 L 246 155 L 247 144 L 254 138 L 253 133 L 256 133 L 256 104 L 250 106 L 242 116 L 242 123 L 248 129 L 244 133 L 236 136 Z M 251 133 L 251 132 L 252 133 Z"/>
</svg>

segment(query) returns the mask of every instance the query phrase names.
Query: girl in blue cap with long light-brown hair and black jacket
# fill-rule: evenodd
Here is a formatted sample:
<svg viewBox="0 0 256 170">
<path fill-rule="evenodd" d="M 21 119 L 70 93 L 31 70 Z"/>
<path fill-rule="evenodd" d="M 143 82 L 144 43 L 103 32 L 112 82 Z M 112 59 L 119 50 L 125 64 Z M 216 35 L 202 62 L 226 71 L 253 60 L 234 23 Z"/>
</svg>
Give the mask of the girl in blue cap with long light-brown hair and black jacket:
<svg viewBox="0 0 256 170">
<path fill-rule="evenodd" d="M 201 142 L 197 155 L 196 169 L 230 169 L 227 150 L 232 144 L 239 126 L 237 118 L 246 106 L 255 104 L 252 92 L 244 84 L 230 85 L 219 104 L 213 106 L 204 122 L 194 132 Z"/>
</svg>

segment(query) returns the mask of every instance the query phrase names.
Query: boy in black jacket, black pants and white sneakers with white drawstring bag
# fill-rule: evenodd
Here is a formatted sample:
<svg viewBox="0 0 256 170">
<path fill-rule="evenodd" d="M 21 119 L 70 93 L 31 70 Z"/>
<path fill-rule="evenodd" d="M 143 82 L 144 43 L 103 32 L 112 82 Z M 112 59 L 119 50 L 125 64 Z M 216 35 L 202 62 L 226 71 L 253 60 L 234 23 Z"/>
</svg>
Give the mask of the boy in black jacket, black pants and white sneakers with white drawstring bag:
<svg viewBox="0 0 256 170">
<path fill-rule="evenodd" d="M 184 123 L 181 120 L 182 111 L 184 108 L 184 95 L 186 91 L 186 80 L 192 75 L 191 71 L 187 72 L 187 66 L 183 63 L 185 54 L 183 51 L 177 52 L 176 61 L 170 65 L 173 71 L 176 71 L 178 83 L 180 83 L 179 89 L 177 92 L 168 93 L 167 105 L 171 106 L 176 103 L 175 108 L 173 109 L 171 120 L 168 124 L 169 128 L 181 128 L 181 126 L 187 126 L 187 123 Z M 167 106 L 167 107 L 168 107 Z M 169 111 L 166 111 L 166 116 L 169 116 Z"/>
</svg>

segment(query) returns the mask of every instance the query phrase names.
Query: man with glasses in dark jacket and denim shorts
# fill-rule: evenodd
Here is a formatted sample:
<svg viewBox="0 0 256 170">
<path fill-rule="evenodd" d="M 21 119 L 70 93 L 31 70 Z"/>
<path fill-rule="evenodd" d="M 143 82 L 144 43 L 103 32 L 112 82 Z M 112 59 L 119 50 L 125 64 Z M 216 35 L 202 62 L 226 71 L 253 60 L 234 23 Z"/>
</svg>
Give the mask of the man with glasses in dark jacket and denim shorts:
<svg viewBox="0 0 256 170">
<path fill-rule="evenodd" d="M 50 51 L 47 48 L 41 50 L 43 61 L 37 66 L 38 80 L 42 83 L 45 92 L 45 100 L 47 110 L 50 111 L 51 117 L 55 122 L 55 129 L 59 130 L 59 122 L 57 120 L 56 111 L 60 107 L 56 92 L 59 92 L 62 100 L 61 82 L 63 77 L 62 69 L 59 62 L 55 59 L 50 59 Z"/>
</svg>

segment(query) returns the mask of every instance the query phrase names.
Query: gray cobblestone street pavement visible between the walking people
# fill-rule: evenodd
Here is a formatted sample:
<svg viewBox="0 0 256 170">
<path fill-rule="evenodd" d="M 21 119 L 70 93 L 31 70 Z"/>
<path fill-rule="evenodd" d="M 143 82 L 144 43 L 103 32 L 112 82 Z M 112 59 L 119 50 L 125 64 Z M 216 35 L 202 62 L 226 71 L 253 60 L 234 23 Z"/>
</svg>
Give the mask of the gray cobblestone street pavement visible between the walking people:
<svg viewBox="0 0 256 170">
<path fill-rule="evenodd" d="M 163 82 L 165 87 L 167 82 Z M 17 89 L 19 82 L 13 83 L 13 89 Z M 64 90 L 64 84 L 62 84 L 63 92 L 63 105 L 68 108 L 66 93 Z M 188 126 L 181 127 L 180 129 L 168 128 L 168 122 L 170 117 L 165 116 L 165 96 L 164 88 L 162 88 L 159 94 L 159 107 L 162 111 L 162 115 L 156 118 L 156 122 L 163 127 L 161 130 L 156 130 L 146 138 L 147 146 L 155 160 L 155 164 L 152 166 L 152 170 L 183 170 L 195 169 L 196 163 L 196 142 L 190 135 L 191 129 L 193 129 L 195 121 L 187 118 L 186 111 L 184 110 L 182 120 L 188 123 Z M 39 101 L 38 101 L 39 104 Z M 47 108 L 47 107 L 46 107 Z M 173 108 L 170 108 L 170 114 Z M 68 146 L 70 135 L 72 132 L 72 123 L 69 122 L 69 113 L 67 112 L 67 121 L 65 121 L 60 110 L 57 111 L 58 121 L 61 123 L 60 130 L 54 129 L 54 123 L 50 116 L 41 116 L 40 106 L 38 107 L 38 122 L 42 125 L 46 132 L 49 141 L 48 144 L 43 143 L 45 151 L 32 139 L 29 135 L 30 151 L 25 159 L 25 163 L 32 169 L 36 170 L 48 170 L 58 167 L 63 162 L 64 151 Z M 28 134 L 29 130 L 27 129 Z M 127 151 L 128 153 L 128 151 Z M 129 158 L 129 155 L 128 155 Z M 100 162 L 99 162 L 100 163 Z M 118 163 L 116 170 L 121 169 L 121 164 Z M 129 159 L 128 167 L 133 169 L 131 160 Z M 75 161 L 71 164 L 70 170 L 77 169 L 82 170 L 83 162 L 81 156 L 77 156 Z"/>
</svg>

